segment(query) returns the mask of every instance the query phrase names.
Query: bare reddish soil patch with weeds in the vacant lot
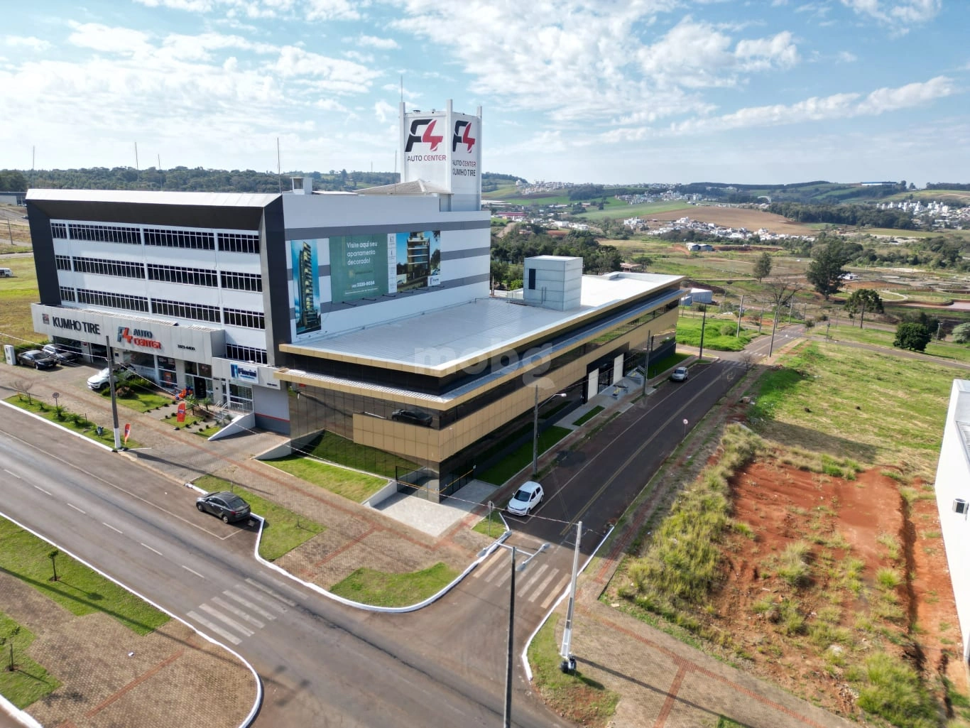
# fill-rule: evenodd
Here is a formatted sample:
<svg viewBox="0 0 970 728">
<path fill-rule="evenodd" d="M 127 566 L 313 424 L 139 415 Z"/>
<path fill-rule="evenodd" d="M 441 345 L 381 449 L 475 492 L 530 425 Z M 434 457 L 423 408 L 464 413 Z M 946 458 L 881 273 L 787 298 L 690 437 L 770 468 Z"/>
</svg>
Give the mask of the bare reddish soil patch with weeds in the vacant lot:
<svg viewBox="0 0 970 728">
<path fill-rule="evenodd" d="M 944 675 L 966 694 L 936 501 L 931 492 L 917 492 L 910 505 L 899 483 L 878 471 L 842 480 L 775 460 L 748 466 L 732 482 L 733 517 L 753 536 L 727 538 L 727 573 L 713 597 L 708 626 L 729 636 L 723 643 L 755 673 L 845 715 L 858 711 L 844 673 L 877 650 L 905 659 L 931 686 Z M 809 577 L 800 586 L 778 575 L 780 555 L 796 542 L 810 549 Z M 848 559 L 862 562 L 857 590 L 847 587 Z M 878 584 L 883 568 L 902 577 L 895 589 Z M 887 591 L 899 608 L 894 617 L 880 609 Z M 796 605 L 805 620 L 802 630 L 788 635 L 786 603 Z M 819 627 L 832 635 L 841 629 L 841 639 L 826 639 Z M 937 697 L 943 704 L 945 696 Z"/>
</svg>

